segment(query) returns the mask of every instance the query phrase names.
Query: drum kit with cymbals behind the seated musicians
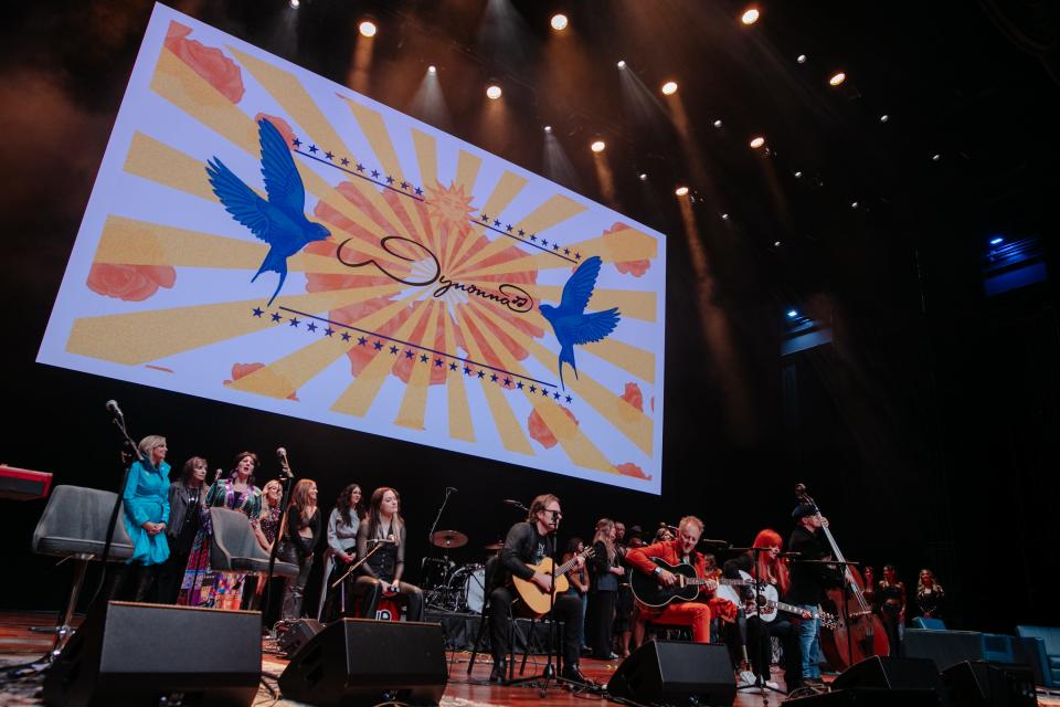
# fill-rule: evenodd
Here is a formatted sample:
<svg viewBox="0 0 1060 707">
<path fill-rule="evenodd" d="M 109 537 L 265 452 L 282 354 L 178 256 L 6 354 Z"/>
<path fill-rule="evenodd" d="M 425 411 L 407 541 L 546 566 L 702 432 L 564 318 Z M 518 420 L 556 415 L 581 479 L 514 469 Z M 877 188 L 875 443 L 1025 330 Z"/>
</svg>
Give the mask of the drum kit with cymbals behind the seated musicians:
<svg viewBox="0 0 1060 707">
<path fill-rule="evenodd" d="M 439 611 L 483 613 L 486 600 L 486 566 L 457 566 L 448 551 L 467 545 L 467 536 L 459 530 L 438 530 L 431 535 L 431 545 L 441 548 L 441 558 L 424 558 L 423 590 L 427 606 Z M 502 542 L 492 542 L 483 549 L 496 553 Z"/>
</svg>

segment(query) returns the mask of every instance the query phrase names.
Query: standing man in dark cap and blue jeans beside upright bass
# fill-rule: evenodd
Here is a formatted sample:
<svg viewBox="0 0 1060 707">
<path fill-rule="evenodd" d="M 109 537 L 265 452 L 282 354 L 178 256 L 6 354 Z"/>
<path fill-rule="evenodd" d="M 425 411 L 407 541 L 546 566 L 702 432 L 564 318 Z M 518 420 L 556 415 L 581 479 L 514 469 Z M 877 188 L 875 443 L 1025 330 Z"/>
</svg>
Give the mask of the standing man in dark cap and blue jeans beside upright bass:
<svg viewBox="0 0 1060 707">
<path fill-rule="evenodd" d="M 831 559 L 831 547 L 822 528 L 828 526 L 828 519 L 812 504 L 799 504 L 792 511 L 795 529 L 787 541 L 787 549 L 799 560 Z M 825 588 L 842 583 L 842 576 L 829 564 L 793 562 L 791 585 L 784 598 L 809 612 L 817 612 L 825 594 Z M 803 652 L 803 682 L 820 685 L 820 622 L 817 619 L 803 619 L 796 626 Z"/>
</svg>

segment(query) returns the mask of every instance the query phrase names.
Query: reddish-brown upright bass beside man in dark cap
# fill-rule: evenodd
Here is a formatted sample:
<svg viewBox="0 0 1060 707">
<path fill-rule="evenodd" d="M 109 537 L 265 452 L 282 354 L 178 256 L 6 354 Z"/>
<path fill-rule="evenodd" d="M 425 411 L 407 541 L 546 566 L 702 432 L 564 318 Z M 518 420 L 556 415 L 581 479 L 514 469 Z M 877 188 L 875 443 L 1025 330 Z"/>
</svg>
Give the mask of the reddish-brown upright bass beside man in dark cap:
<svg viewBox="0 0 1060 707">
<path fill-rule="evenodd" d="M 795 486 L 795 496 L 799 503 L 817 508 L 816 502 L 806 493 L 804 484 Z M 817 515 L 820 516 L 819 508 Z M 831 547 L 833 558 L 838 563 L 845 562 L 836 539 L 831 537 L 831 530 L 824 525 L 822 530 Z M 883 622 L 865 598 L 865 582 L 861 573 L 852 566 L 842 564 L 841 568 L 846 591 L 841 587 L 827 591 L 828 600 L 835 606 L 838 622 L 831 629 L 823 626 L 820 632 L 820 650 L 828 658 L 828 663 L 840 672 L 869 656 L 887 655 L 890 650 Z"/>
</svg>

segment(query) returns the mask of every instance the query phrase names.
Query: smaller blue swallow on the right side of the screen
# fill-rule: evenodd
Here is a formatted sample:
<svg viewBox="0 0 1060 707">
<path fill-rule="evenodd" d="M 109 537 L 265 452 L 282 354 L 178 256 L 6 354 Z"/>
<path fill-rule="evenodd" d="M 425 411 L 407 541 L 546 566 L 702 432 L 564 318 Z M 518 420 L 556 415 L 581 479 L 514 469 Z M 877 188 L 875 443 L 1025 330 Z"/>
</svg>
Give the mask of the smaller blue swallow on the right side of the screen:
<svg viewBox="0 0 1060 707">
<path fill-rule="evenodd" d="M 592 344 L 607 338 L 615 327 L 618 326 L 618 317 L 622 314 L 618 307 L 612 307 L 606 312 L 594 312 L 585 314 L 585 307 L 593 296 L 593 289 L 596 287 L 596 277 L 600 275 L 600 256 L 593 255 L 586 258 L 571 278 L 563 285 L 563 296 L 560 299 L 560 306 L 542 304 L 538 307 L 552 330 L 555 331 L 555 338 L 560 342 L 560 362 L 558 365 L 560 372 L 560 386 L 566 390 L 563 383 L 563 363 L 570 365 L 574 369 L 574 378 L 577 378 L 577 365 L 574 362 L 574 345 Z"/>
</svg>

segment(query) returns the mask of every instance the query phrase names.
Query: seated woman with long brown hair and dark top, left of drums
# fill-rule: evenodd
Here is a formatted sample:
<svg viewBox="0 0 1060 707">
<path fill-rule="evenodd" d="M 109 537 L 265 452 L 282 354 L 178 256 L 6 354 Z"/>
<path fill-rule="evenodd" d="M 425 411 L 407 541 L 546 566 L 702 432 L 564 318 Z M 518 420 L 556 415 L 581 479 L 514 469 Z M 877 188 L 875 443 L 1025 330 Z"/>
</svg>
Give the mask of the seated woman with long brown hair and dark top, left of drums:
<svg viewBox="0 0 1060 707">
<path fill-rule="evenodd" d="M 399 513 L 401 497 L 389 486 L 377 488 L 368 508 L 368 518 L 357 531 L 357 556 L 381 547 L 361 564 L 353 593 L 361 599 L 361 618 L 374 619 L 379 600 L 393 595 L 407 606 L 409 621 L 423 621 L 423 591 L 401 581 L 405 571 L 405 520 Z"/>
</svg>

